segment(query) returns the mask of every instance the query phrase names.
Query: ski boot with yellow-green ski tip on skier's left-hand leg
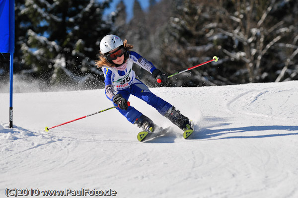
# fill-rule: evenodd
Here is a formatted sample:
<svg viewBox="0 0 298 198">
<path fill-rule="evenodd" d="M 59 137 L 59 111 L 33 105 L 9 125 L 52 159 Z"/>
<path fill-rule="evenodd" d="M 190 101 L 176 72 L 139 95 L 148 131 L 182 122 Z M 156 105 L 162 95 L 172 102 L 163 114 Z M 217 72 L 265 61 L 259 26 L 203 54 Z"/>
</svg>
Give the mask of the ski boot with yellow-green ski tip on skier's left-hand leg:
<svg viewBox="0 0 298 198">
<path fill-rule="evenodd" d="M 136 119 L 135 123 L 139 128 L 143 129 L 143 132 L 138 133 L 138 140 L 143 141 L 145 137 L 154 131 L 155 125 L 147 116 L 142 115 L 140 118 Z"/>
</svg>

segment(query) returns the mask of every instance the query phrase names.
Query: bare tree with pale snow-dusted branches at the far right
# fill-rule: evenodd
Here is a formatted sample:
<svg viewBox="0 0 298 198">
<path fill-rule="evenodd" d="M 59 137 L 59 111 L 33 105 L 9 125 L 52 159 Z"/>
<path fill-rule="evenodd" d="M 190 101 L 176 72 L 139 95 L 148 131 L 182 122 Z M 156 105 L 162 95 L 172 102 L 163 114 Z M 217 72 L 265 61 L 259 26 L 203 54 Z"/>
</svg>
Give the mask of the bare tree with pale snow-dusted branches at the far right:
<svg viewBox="0 0 298 198">
<path fill-rule="evenodd" d="M 286 49 L 279 46 L 288 42 L 291 45 L 294 39 L 291 35 L 297 32 L 293 23 L 297 18 L 293 10 L 297 9 L 297 1 L 229 0 L 220 1 L 215 7 L 216 30 L 227 37 L 222 40 L 225 41 L 222 50 L 239 65 L 238 70 L 241 65 L 245 66 L 242 73 L 248 77 L 245 81 L 274 81 L 277 77 L 275 71 L 285 62 L 287 64 L 286 56 L 280 56 Z M 233 76 L 241 75 L 237 71 Z"/>
</svg>

